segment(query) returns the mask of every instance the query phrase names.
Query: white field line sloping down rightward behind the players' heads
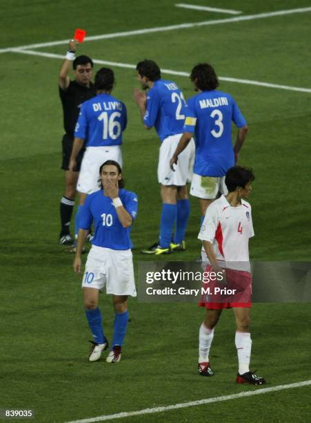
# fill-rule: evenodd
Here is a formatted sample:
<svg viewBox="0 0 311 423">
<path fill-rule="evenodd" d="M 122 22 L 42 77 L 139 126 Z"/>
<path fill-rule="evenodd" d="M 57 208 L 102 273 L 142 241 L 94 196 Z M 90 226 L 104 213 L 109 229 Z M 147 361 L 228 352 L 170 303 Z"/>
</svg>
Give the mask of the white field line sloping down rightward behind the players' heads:
<svg viewBox="0 0 311 423">
<path fill-rule="evenodd" d="M 23 55 L 34 55 L 34 56 L 41 56 L 41 57 L 49 57 L 51 59 L 65 59 L 63 55 L 56 55 L 54 53 L 43 53 L 37 50 L 23 50 L 19 48 L 12 49 L 14 53 L 22 53 Z M 136 66 L 128 63 L 119 63 L 119 62 L 109 62 L 107 60 L 100 60 L 100 59 L 93 59 L 93 62 L 96 64 L 103 64 L 107 66 L 116 66 L 118 68 L 128 68 L 128 69 L 135 69 Z M 180 71 L 171 71 L 170 69 L 161 69 L 162 73 L 167 75 L 177 75 L 177 76 L 185 76 L 189 77 L 189 73 L 187 72 L 180 72 Z M 229 77 L 219 77 L 221 81 L 225 82 L 234 82 L 235 84 L 248 84 L 254 86 L 265 86 L 267 88 L 277 88 L 281 90 L 288 90 L 288 91 L 299 91 L 300 93 L 311 93 L 311 88 L 301 88 L 299 86 L 288 86 L 288 85 L 279 85 L 279 84 L 270 84 L 269 82 L 260 82 L 260 81 L 252 81 L 251 79 L 237 79 L 237 78 L 229 78 Z"/>
</svg>

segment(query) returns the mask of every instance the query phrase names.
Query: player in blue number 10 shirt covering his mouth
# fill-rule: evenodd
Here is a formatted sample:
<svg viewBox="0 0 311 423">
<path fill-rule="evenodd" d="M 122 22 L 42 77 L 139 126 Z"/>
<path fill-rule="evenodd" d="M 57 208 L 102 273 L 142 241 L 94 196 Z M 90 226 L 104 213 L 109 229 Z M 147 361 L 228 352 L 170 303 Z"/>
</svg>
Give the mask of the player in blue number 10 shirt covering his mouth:
<svg viewBox="0 0 311 423">
<path fill-rule="evenodd" d="M 101 189 L 90 194 L 81 208 L 74 272 L 81 273 L 81 253 L 94 220 L 94 238 L 83 274 L 83 296 L 86 317 L 94 337 L 89 361 L 97 361 L 108 340 L 103 331 L 98 307 L 99 292 L 106 286 L 114 305 L 114 333 L 106 361 L 121 359 L 121 346 L 128 325 L 128 295 L 136 297 L 130 231 L 137 216 L 137 195 L 123 189 L 121 167 L 114 160 L 104 162 L 99 170 Z"/>
</svg>

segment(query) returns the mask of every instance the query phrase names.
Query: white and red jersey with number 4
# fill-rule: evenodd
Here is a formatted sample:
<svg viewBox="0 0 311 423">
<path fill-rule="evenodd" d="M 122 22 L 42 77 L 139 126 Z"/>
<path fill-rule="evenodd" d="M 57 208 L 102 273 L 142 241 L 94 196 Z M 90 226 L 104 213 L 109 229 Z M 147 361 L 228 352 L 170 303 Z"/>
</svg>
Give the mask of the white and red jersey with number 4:
<svg viewBox="0 0 311 423">
<path fill-rule="evenodd" d="M 212 243 L 218 261 L 225 261 L 227 267 L 246 270 L 250 268 L 248 240 L 252 236 L 250 203 L 241 200 L 241 205 L 233 207 L 221 196 L 206 210 L 198 238 Z"/>
</svg>

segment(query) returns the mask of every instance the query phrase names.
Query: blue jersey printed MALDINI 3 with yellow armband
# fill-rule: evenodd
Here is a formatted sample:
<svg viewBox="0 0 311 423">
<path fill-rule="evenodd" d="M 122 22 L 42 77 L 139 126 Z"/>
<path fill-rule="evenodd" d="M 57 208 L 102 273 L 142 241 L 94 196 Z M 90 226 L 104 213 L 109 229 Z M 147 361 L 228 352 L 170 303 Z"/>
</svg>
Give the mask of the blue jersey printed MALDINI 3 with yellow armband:
<svg viewBox="0 0 311 423">
<path fill-rule="evenodd" d="M 203 91 L 188 100 L 183 132 L 195 134 L 194 173 L 224 176 L 234 166 L 232 122 L 238 128 L 246 125 L 231 95 L 217 90 Z"/>
</svg>

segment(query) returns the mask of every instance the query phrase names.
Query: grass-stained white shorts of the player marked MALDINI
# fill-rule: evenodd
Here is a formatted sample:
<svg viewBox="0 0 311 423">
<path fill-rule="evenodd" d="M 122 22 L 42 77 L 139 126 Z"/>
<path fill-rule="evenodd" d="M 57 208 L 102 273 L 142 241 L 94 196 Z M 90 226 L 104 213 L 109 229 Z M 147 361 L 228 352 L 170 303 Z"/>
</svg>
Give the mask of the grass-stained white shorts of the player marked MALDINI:
<svg viewBox="0 0 311 423">
<path fill-rule="evenodd" d="M 217 193 L 227 195 L 228 189 L 225 185 L 225 176 L 201 176 L 193 173 L 190 194 L 194 197 L 211 200 L 216 198 Z"/>
</svg>

